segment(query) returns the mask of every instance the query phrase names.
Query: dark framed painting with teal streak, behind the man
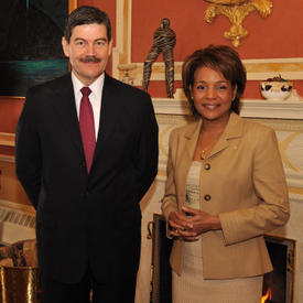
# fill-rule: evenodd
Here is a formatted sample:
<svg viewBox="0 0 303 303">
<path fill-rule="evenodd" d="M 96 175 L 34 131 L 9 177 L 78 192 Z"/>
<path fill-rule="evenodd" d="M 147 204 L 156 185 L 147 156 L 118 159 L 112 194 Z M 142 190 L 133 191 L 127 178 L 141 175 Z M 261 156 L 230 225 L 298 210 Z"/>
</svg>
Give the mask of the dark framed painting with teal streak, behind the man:
<svg viewBox="0 0 303 303">
<path fill-rule="evenodd" d="M 24 97 L 29 87 L 68 71 L 61 46 L 77 0 L 4 0 L 0 10 L 0 96 Z"/>
</svg>

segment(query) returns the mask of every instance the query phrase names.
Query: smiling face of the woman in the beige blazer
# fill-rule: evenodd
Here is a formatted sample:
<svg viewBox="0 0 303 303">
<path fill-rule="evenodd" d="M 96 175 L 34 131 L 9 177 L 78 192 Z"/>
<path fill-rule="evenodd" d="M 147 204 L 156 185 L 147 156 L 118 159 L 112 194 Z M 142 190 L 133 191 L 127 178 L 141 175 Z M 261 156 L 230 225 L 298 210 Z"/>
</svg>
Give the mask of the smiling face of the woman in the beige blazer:
<svg viewBox="0 0 303 303">
<path fill-rule="evenodd" d="M 196 69 L 191 88 L 194 106 L 203 119 L 227 122 L 237 88 L 220 72 L 203 66 Z"/>
</svg>

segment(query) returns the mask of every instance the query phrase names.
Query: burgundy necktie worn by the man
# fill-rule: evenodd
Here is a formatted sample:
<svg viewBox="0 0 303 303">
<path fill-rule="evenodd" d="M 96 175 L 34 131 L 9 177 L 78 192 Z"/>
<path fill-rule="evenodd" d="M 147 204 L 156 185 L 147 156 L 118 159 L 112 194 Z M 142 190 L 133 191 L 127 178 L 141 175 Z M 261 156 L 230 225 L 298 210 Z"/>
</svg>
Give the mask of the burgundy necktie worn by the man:
<svg viewBox="0 0 303 303">
<path fill-rule="evenodd" d="M 89 87 L 83 87 L 80 91 L 83 97 L 80 101 L 79 125 L 86 159 L 86 167 L 87 172 L 89 173 L 96 147 L 94 112 L 91 104 L 88 99 L 91 90 Z"/>
</svg>

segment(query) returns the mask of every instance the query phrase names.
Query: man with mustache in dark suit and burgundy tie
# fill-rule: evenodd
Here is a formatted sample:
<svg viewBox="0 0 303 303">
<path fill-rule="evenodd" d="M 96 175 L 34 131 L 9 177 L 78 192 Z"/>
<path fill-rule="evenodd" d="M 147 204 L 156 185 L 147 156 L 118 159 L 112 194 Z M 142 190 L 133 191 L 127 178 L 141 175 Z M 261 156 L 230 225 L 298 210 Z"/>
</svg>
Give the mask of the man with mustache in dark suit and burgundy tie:
<svg viewBox="0 0 303 303">
<path fill-rule="evenodd" d="M 44 303 L 89 302 L 90 290 L 94 302 L 133 302 L 139 202 L 158 166 L 152 102 L 105 73 L 112 47 L 105 12 L 73 11 L 62 43 L 72 73 L 28 91 L 17 129 Z"/>
</svg>

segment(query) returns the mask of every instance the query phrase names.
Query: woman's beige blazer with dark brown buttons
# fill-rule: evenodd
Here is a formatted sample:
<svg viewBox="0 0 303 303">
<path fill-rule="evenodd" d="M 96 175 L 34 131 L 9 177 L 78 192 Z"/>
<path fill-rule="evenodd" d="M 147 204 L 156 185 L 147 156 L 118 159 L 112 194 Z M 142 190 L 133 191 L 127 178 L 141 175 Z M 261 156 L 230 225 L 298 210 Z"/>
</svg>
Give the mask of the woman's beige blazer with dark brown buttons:
<svg viewBox="0 0 303 303">
<path fill-rule="evenodd" d="M 185 202 L 186 176 L 202 120 L 170 137 L 162 212 L 167 219 Z M 252 277 L 272 270 L 263 234 L 289 219 L 285 175 L 274 131 L 231 113 L 201 171 L 201 209 L 218 215 L 221 230 L 202 235 L 204 279 Z M 169 230 L 167 230 L 167 237 Z M 183 268 L 183 241 L 175 240 L 171 266 Z"/>
</svg>

